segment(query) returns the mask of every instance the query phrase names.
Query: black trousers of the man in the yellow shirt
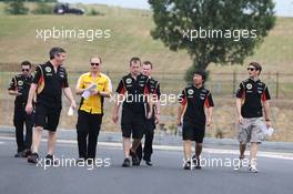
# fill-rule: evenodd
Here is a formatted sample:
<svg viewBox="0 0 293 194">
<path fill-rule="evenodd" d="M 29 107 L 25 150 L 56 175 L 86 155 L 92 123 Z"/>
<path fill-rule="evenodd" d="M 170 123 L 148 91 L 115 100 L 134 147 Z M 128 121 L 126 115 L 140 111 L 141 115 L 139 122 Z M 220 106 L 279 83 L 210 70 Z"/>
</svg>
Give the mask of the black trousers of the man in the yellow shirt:
<svg viewBox="0 0 293 194">
<path fill-rule="evenodd" d="M 77 133 L 80 159 L 94 159 L 102 114 L 79 111 Z"/>
</svg>

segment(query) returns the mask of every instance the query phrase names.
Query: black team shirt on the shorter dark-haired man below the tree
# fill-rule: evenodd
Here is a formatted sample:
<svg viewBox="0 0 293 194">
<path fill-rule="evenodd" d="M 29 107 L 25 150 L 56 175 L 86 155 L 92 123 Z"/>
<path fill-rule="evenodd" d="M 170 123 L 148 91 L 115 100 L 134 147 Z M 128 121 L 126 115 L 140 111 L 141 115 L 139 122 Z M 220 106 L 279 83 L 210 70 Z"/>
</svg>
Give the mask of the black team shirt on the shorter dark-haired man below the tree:
<svg viewBox="0 0 293 194">
<path fill-rule="evenodd" d="M 188 86 L 182 91 L 180 102 L 185 105 L 183 122 L 195 126 L 205 125 L 204 105 L 214 106 L 212 94 L 203 86 L 198 89 L 194 85 Z"/>
</svg>

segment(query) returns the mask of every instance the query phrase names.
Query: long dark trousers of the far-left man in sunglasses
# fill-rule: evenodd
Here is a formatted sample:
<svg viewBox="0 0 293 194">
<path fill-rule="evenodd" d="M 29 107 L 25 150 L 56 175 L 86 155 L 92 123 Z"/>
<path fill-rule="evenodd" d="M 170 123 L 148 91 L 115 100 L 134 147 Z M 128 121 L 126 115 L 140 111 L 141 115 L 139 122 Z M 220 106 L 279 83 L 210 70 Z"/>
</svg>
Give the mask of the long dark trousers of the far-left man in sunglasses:
<svg viewBox="0 0 293 194">
<path fill-rule="evenodd" d="M 16 139 L 18 144 L 18 152 L 22 152 L 26 149 L 31 149 L 32 142 L 32 115 L 26 113 L 26 104 L 16 104 L 13 124 L 16 126 Z M 26 137 L 23 135 L 26 124 Z"/>
</svg>

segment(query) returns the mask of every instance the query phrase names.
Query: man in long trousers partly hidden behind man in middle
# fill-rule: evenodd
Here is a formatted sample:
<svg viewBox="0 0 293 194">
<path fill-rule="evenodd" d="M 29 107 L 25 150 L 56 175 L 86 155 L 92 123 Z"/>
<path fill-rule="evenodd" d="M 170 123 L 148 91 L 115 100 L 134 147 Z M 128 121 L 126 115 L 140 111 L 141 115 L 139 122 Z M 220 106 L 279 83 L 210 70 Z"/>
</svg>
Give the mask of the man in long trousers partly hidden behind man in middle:
<svg viewBox="0 0 293 194">
<path fill-rule="evenodd" d="M 145 164 L 149 166 L 152 166 L 151 155 L 153 153 L 153 149 L 152 149 L 153 134 L 154 134 L 155 124 L 159 123 L 160 121 L 160 95 L 161 95 L 159 81 L 154 80 L 151 76 L 152 69 L 153 69 L 153 64 L 150 61 L 144 61 L 142 63 L 142 74 L 149 76 L 150 79 L 150 89 L 151 89 L 150 92 L 153 94 L 154 104 L 153 104 L 153 114 L 151 119 L 146 120 L 146 130 L 144 133 L 143 150 L 141 144 L 137 150 L 137 154 L 140 161 L 143 159 L 145 161 Z"/>
</svg>

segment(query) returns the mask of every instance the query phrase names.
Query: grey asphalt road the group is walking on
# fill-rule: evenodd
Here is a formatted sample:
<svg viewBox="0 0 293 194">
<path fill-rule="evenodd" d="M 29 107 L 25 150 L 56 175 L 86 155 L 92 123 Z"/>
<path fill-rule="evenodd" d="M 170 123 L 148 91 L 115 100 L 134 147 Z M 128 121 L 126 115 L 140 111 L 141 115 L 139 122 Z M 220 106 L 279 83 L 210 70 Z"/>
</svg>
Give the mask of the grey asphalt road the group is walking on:
<svg viewBox="0 0 293 194">
<path fill-rule="evenodd" d="M 154 151 L 154 166 L 121 167 L 122 146 L 98 146 L 98 166 L 69 166 L 65 159 L 77 157 L 75 143 L 57 143 L 55 156 L 63 166 L 31 165 L 24 159 L 14 159 L 13 140 L 0 137 L 0 194 L 52 193 L 117 193 L 117 194 L 292 194 L 293 160 L 259 157 L 259 173 L 231 166 L 205 166 L 202 170 L 182 170 L 182 152 Z M 41 146 L 46 155 L 46 143 Z M 232 154 L 203 153 L 203 159 L 236 157 Z M 43 164 L 43 163 L 42 163 Z M 67 164 L 67 166 L 65 166 Z M 108 166 L 110 164 L 110 166 Z M 206 163 L 208 164 L 208 163 Z"/>
</svg>

